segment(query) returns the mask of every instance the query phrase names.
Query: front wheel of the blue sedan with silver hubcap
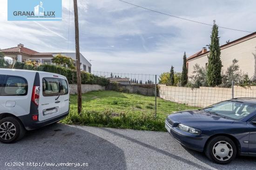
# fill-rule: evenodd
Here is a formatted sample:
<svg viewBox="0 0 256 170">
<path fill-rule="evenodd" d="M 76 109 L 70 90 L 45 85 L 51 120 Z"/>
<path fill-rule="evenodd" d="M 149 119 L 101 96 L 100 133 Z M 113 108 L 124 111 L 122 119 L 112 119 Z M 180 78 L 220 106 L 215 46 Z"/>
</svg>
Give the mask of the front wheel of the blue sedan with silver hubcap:
<svg viewBox="0 0 256 170">
<path fill-rule="evenodd" d="M 229 164 L 236 157 L 236 145 L 226 136 L 217 136 L 210 139 L 205 154 L 217 164 Z"/>
</svg>

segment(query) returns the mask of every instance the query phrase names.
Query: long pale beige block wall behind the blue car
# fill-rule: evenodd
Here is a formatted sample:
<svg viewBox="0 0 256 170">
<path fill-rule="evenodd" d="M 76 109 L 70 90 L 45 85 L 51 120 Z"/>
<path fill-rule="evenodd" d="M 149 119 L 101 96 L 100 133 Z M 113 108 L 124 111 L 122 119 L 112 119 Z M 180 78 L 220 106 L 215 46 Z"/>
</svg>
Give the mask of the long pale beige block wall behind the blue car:
<svg viewBox="0 0 256 170">
<path fill-rule="evenodd" d="M 231 88 L 182 88 L 166 85 L 158 85 L 158 88 L 162 99 L 195 107 L 207 107 L 232 98 Z M 234 98 L 236 97 L 256 97 L 256 86 L 235 86 Z"/>
</svg>

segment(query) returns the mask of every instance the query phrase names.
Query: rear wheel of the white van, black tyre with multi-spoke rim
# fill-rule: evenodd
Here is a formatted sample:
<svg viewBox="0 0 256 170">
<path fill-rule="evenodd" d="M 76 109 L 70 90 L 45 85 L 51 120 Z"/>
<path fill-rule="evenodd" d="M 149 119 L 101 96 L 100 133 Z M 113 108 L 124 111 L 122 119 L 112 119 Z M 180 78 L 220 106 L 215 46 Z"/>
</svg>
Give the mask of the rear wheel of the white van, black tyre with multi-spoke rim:
<svg viewBox="0 0 256 170">
<path fill-rule="evenodd" d="M 24 137 L 26 130 L 19 120 L 7 117 L 0 120 L 0 142 L 10 144 Z"/>
</svg>

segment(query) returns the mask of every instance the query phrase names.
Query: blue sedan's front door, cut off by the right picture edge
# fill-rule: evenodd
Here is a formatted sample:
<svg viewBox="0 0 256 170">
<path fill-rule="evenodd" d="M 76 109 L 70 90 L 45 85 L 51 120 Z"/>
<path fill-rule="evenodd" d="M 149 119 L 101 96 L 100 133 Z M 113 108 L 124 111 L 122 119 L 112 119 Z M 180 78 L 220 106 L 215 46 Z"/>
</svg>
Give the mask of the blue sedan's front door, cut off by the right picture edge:
<svg viewBox="0 0 256 170">
<path fill-rule="evenodd" d="M 249 152 L 256 154 L 256 117 L 248 122 L 249 125 Z"/>
</svg>

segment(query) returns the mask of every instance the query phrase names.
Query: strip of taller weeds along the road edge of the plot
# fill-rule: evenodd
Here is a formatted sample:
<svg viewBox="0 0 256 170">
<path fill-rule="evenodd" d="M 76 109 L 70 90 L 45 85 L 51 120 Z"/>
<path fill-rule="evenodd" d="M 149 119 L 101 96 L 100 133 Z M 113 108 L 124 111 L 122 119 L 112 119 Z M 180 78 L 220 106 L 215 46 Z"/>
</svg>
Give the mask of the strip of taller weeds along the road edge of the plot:
<svg viewBox="0 0 256 170">
<path fill-rule="evenodd" d="M 110 110 L 104 112 L 82 111 L 79 115 L 71 111 L 69 115 L 61 120 L 66 124 L 78 124 L 86 126 L 115 127 L 135 130 L 166 131 L 164 121 L 154 117 L 154 115 L 141 113 L 134 115 L 132 113 L 120 113 L 113 116 Z"/>
</svg>

